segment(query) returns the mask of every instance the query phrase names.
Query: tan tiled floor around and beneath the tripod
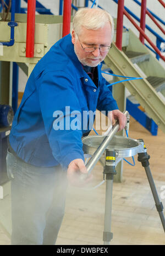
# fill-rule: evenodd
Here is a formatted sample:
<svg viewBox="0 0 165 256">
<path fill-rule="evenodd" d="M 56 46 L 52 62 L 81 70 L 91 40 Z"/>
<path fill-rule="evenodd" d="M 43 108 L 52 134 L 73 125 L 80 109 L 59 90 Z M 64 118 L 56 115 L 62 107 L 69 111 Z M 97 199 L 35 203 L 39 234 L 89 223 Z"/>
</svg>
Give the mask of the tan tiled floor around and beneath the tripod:
<svg viewBox="0 0 165 256">
<path fill-rule="evenodd" d="M 157 192 L 165 206 L 165 134 L 158 130 L 158 135 L 154 137 L 131 118 L 129 137 L 144 139 L 147 152 L 151 156 L 150 168 Z M 102 181 L 102 166 L 97 164 L 92 173 L 94 179 L 90 187 Z M 58 245 L 103 244 L 105 185 L 103 183 L 94 190 L 68 188 L 65 216 L 57 239 Z M 134 167 L 124 162 L 123 182 L 113 184 L 112 232 L 111 244 L 165 244 L 160 217 L 155 208 L 144 167 L 138 162 L 137 155 Z M 0 244 L 10 244 L 10 239 L 1 229 Z"/>
</svg>

